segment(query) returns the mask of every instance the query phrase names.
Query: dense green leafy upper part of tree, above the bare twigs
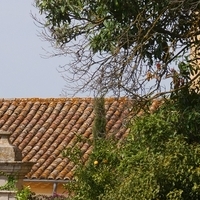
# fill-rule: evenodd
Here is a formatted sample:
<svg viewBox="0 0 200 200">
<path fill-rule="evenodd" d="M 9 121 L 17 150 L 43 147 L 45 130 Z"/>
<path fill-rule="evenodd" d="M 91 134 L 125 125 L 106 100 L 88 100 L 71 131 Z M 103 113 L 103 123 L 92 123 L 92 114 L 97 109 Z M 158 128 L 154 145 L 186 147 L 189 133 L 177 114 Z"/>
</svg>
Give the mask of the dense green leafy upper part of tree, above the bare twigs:
<svg viewBox="0 0 200 200">
<path fill-rule="evenodd" d="M 190 5 L 197 6 L 189 9 Z M 55 30 L 58 40 L 62 34 L 64 43 L 89 35 L 94 52 L 112 52 L 114 48 L 127 49 L 145 42 L 139 51 L 152 61 L 164 59 L 168 42 L 185 41 L 195 21 L 189 11 L 198 9 L 199 4 L 186 0 L 182 5 L 169 0 L 36 0 L 36 6 L 46 15 L 46 25 Z"/>
</svg>

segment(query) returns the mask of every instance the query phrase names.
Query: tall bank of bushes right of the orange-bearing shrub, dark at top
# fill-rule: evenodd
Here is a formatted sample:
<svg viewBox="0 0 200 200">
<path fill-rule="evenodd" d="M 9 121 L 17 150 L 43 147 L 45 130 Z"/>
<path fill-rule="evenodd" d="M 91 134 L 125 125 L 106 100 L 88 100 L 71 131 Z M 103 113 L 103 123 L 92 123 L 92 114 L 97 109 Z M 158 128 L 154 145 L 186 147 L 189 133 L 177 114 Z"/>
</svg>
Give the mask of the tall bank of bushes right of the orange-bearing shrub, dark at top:
<svg viewBox="0 0 200 200">
<path fill-rule="evenodd" d="M 105 199 L 200 198 L 199 100 L 184 88 L 155 113 L 133 120 L 120 166 L 126 184 Z"/>
</svg>

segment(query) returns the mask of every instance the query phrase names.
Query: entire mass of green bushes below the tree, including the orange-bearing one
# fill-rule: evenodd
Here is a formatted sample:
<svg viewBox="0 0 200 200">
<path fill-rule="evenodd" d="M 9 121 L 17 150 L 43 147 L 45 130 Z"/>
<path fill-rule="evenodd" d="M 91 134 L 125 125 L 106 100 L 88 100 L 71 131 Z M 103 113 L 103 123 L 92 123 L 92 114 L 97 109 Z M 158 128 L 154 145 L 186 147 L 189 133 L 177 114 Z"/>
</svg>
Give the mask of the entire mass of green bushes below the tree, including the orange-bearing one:
<svg viewBox="0 0 200 200">
<path fill-rule="evenodd" d="M 121 144 L 100 139 L 66 185 L 73 200 L 200 199 L 200 95 L 187 88 L 136 117 Z"/>
</svg>

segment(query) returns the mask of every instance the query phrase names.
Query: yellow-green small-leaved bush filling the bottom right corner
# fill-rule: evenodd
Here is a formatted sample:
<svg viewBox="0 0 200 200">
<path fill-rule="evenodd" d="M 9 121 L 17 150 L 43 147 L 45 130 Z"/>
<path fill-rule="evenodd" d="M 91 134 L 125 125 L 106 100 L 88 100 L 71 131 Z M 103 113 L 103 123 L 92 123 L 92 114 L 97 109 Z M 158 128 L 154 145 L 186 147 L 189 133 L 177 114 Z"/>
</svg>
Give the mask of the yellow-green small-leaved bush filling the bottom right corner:
<svg viewBox="0 0 200 200">
<path fill-rule="evenodd" d="M 129 144 L 135 148 L 125 151 L 123 179 L 103 199 L 199 199 L 199 145 L 192 147 L 181 136 L 157 151 L 134 140 Z"/>
</svg>

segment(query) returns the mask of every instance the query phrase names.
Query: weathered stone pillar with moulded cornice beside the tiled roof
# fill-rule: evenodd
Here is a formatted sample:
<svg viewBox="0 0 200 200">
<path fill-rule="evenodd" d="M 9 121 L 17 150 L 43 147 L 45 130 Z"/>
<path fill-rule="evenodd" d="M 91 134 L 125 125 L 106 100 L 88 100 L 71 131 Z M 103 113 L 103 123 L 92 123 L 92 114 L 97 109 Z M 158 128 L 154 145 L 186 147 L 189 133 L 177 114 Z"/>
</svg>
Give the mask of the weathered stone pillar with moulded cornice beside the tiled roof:
<svg viewBox="0 0 200 200">
<path fill-rule="evenodd" d="M 16 191 L 22 189 L 23 179 L 34 164 L 22 161 L 22 153 L 10 143 L 9 136 L 9 132 L 0 131 L 0 200 L 16 199 Z"/>
</svg>

